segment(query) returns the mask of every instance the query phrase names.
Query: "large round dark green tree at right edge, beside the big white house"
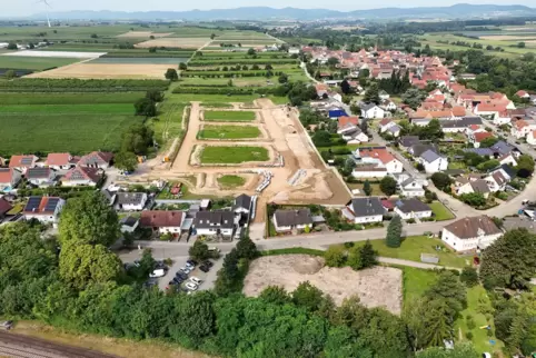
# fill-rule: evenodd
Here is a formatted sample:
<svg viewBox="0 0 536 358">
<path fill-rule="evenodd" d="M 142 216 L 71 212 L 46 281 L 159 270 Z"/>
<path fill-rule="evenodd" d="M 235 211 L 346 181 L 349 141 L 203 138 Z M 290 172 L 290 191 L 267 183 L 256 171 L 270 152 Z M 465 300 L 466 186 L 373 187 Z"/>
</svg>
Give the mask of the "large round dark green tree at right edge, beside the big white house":
<svg viewBox="0 0 536 358">
<path fill-rule="evenodd" d="M 527 287 L 536 276 L 536 235 L 526 229 L 505 232 L 482 256 L 480 278 L 487 289 Z"/>
</svg>

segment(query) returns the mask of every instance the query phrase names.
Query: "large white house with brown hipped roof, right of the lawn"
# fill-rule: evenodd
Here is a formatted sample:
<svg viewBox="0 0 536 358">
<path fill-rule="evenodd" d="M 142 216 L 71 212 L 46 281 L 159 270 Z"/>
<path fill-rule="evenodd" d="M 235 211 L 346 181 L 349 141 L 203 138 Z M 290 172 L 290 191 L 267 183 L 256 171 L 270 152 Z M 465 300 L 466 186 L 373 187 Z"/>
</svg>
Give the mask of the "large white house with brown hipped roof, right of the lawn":
<svg viewBox="0 0 536 358">
<path fill-rule="evenodd" d="M 441 231 L 441 240 L 458 252 L 485 249 L 500 236 L 503 231 L 485 215 L 457 220 Z"/>
</svg>

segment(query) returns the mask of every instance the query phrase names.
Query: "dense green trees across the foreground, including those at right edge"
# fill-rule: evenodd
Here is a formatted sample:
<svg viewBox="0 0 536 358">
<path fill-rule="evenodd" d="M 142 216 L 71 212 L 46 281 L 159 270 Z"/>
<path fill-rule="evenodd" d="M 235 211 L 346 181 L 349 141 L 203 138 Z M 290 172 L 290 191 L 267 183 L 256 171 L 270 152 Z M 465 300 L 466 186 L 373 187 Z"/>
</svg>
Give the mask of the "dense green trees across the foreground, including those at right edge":
<svg viewBox="0 0 536 358">
<path fill-rule="evenodd" d="M 438 272 L 437 281 L 398 317 L 366 308 L 357 297 L 336 307 L 309 282 L 291 292 L 268 287 L 258 298 L 242 296 L 241 280 L 259 253 L 248 238 L 224 258 L 214 291 L 186 295 L 146 287 L 155 260 L 146 250 L 140 265 L 126 270 L 108 249 L 119 237 L 118 218 L 100 193 L 68 201 L 58 238 L 42 239 L 41 230 L 33 221 L 0 228 L 2 317 L 38 319 L 73 332 L 157 338 L 224 357 L 478 357 L 470 345 L 440 348 L 453 338 L 455 319 L 466 306 L 466 285 L 475 285 L 457 271 Z M 488 255 L 495 260 L 500 251 L 534 248 L 535 236 L 514 236 L 523 240 L 515 247 L 502 241 Z M 525 263 L 533 265 L 526 257 Z M 502 270 L 486 268 L 486 282 L 510 286 L 497 281 L 508 275 L 508 268 Z M 518 287 L 525 276 L 518 275 Z M 500 302 L 506 308 L 496 319 L 505 339 L 513 350 L 532 348 L 534 300 Z"/>
</svg>

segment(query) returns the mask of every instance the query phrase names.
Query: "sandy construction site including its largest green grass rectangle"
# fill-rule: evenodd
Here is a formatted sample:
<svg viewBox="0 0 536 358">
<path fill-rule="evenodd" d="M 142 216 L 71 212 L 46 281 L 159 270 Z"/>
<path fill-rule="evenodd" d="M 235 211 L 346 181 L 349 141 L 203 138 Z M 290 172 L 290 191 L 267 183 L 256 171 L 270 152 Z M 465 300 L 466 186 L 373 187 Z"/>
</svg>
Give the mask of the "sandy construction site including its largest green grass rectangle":
<svg viewBox="0 0 536 358">
<path fill-rule="evenodd" d="M 309 136 L 301 126 L 296 109 L 275 106 L 269 99 L 258 99 L 252 107 L 218 111 L 254 111 L 255 120 L 247 125 L 258 127 L 256 139 L 200 139 L 198 133 L 210 126 L 228 126 L 228 120 L 205 122 L 205 108 L 191 102 L 187 132 L 180 148 L 170 162 L 148 162 L 138 170 L 131 181 L 168 180 L 182 181 L 190 192 L 210 197 L 234 197 L 239 193 L 257 196 L 256 221 L 265 221 L 268 202 L 341 205 L 350 192 L 332 168 L 320 159 Z M 205 151 L 211 151 L 207 161 Z M 215 157 L 216 155 L 216 157 Z M 244 178 L 244 185 L 224 189 L 218 178 L 222 176 Z"/>
</svg>

